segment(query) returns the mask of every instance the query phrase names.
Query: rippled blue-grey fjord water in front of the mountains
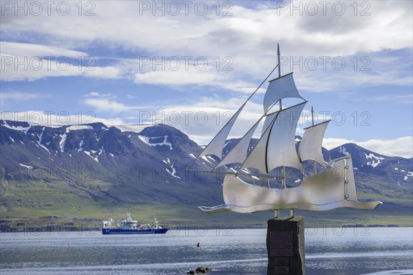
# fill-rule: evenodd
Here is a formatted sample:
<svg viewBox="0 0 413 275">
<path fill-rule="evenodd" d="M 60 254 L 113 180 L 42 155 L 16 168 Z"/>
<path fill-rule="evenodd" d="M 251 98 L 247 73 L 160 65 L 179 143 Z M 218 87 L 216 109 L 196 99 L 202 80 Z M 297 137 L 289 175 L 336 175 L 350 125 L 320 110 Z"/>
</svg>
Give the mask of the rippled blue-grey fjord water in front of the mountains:
<svg viewBox="0 0 413 275">
<path fill-rule="evenodd" d="M 6 274 L 266 274 L 266 229 L 0 235 Z M 197 248 L 196 244 L 201 243 Z M 412 274 L 413 228 L 306 228 L 306 274 Z"/>
</svg>

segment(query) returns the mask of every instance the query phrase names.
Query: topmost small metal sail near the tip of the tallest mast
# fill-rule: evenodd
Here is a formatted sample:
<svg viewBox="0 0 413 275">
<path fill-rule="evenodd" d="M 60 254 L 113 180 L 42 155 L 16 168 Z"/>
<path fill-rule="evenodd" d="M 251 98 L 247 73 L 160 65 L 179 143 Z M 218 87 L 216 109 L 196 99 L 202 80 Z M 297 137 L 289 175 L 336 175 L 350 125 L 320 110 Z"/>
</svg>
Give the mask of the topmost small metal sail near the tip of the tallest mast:
<svg viewBox="0 0 413 275">
<path fill-rule="evenodd" d="M 270 81 L 264 96 L 264 112 L 266 113 L 275 102 L 283 98 L 301 98 L 305 100 L 295 87 L 293 73 Z"/>
</svg>

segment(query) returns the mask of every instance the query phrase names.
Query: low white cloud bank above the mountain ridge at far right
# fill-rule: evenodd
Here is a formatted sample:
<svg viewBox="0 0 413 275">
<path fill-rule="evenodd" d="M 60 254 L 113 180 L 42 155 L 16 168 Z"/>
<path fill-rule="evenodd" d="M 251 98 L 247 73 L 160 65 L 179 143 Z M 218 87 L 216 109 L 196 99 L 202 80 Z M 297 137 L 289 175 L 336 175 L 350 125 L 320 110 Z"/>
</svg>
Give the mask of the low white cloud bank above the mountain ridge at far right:
<svg viewBox="0 0 413 275">
<path fill-rule="evenodd" d="M 355 143 L 370 151 L 395 157 L 413 157 L 413 137 L 399 137 L 394 140 L 372 139 L 364 142 L 344 138 L 325 138 L 323 146 L 328 150 L 346 143 Z"/>
</svg>

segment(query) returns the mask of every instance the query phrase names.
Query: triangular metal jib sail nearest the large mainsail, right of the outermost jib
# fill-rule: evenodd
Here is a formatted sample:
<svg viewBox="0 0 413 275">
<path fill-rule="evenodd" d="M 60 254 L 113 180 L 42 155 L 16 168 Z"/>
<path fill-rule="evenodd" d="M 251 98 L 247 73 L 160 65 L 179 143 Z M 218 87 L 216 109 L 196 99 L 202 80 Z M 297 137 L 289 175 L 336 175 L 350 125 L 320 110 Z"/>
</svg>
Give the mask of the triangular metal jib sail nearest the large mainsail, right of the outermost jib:
<svg viewBox="0 0 413 275">
<path fill-rule="evenodd" d="M 275 115 L 273 115 L 273 118 L 274 117 Z M 264 118 L 264 116 L 262 118 Z M 248 154 L 248 147 L 251 142 L 251 138 L 253 137 L 253 134 L 257 129 L 257 126 L 260 124 L 262 118 L 260 118 L 260 120 L 258 120 L 254 124 L 254 126 L 244 135 L 244 137 L 242 137 L 242 139 L 232 148 L 232 150 L 226 154 L 221 162 L 217 166 L 215 166 L 215 168 L 218 168 L 225 164 L 243 163 L 245 161 L 246 155 Z"/>
</svg>

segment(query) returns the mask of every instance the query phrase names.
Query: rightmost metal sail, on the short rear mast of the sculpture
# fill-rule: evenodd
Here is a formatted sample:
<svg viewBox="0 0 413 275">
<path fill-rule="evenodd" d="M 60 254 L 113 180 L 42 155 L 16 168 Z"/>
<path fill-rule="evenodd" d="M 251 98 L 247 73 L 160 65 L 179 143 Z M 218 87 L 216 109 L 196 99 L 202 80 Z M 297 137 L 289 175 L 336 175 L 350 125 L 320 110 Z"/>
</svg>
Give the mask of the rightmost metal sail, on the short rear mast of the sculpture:
<svg viewBox="0 0 413 275">
<path fill-rule="evenodd" d="M 310 159 L 315 160 L 322 166 L 326 166 L 321 146 L 323 144 L 323 137 L 324 133 L 326 133 L 328 122 L 330 122 L 330 120 L 305 129 L 298 148 L 298 155 L 301 162 Z"/>
</svg>

